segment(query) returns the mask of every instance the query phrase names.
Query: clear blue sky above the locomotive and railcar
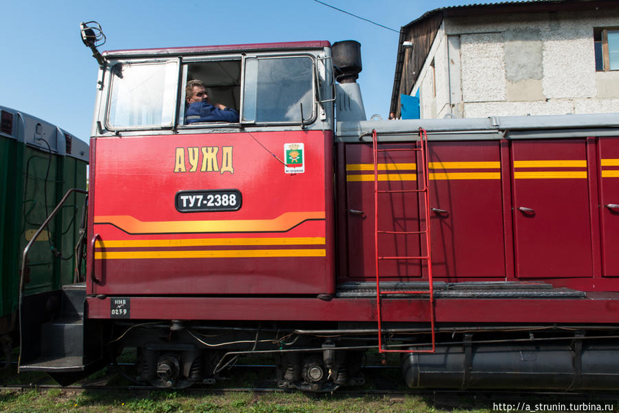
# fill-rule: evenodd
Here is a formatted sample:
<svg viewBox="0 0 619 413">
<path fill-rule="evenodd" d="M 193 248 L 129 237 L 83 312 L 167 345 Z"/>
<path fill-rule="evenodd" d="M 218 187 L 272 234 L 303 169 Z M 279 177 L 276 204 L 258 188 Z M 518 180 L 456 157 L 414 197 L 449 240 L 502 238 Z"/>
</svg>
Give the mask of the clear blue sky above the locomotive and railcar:
<svg viewBox="0 0 619 413">
<path fill-rule="evenodd" d="M 324 0 L 399 30 L 435 8 L 488 1 Z M 490 1 L 492 2 L 492 1 Z M 386 118 L 396 32 L 313 0 L 0 0 L 0 105 L 19 109 L 88 141 L 97 63 L 79 36 L 81 21 L 101 23 L 101 50 L 354 39 L 361 43 L 359 76 L 368 118 Z"/>
</svg>

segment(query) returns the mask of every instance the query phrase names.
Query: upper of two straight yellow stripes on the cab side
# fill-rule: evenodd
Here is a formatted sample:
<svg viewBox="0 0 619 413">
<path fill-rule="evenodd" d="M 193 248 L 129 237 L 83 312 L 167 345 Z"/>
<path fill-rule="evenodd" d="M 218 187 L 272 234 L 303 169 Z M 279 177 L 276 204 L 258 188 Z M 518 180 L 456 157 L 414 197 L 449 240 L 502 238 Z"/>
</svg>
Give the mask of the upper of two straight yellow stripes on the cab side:
<svg viewBox="0 0 619 413">
<path fill-rule="evenodd" d="M 154 247 L 154 246 L 213 246 L 213 245 L 323 245 L 324 237 L 299 238 L 206 238 L 196 240 L 106 240 L 97 241 L 96 248 Z"/>
</svg>

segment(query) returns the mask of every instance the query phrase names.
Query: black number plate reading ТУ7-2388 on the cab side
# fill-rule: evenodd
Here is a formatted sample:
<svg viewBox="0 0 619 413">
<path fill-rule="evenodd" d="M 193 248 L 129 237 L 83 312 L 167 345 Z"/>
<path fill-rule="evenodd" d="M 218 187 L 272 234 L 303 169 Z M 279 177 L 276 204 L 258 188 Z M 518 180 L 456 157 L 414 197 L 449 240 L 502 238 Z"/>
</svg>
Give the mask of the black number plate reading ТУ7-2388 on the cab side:
<svg viewBox="0 0 619 413">
<path fill-rule="evenodd" d="M 174 205 L 178 212 L 238 211 L 242 204 L 238 189 L 179 191 Z"/>
</svg>

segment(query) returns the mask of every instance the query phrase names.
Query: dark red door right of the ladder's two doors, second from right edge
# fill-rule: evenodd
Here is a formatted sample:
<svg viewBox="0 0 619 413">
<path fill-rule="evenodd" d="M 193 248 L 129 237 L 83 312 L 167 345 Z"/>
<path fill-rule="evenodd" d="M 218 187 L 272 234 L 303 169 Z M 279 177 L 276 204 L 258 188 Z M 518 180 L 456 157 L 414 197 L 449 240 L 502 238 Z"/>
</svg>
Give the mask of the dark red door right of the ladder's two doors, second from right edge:
<svg viewBox="0 0 619 413">
<path fill-rule="evenodd" d="M 512 142 L 512 159 L 586 160 L 585 140 Z M 516 171 L 585 171 L 574 167 Z M 587 178 L 514 179 L 516 277 L 592 277 Z M 523 213 L 527 207 L 534 213 Z"/>
</svg>

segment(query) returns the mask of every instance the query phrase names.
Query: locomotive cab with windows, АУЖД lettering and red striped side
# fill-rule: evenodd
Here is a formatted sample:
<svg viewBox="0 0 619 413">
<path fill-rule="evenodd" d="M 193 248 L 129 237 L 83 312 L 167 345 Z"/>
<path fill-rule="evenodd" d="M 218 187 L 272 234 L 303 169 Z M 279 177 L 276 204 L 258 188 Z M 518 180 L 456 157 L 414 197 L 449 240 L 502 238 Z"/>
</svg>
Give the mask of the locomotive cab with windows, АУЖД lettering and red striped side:
<svg viewBox="0 0 619 413">
<path fill-rule="evenodd" d="M 88 293 L 333 293 L 328 43 L 103 56 Z M 238 122 L 188 121 L 195 80 Z"/>
</svg>

